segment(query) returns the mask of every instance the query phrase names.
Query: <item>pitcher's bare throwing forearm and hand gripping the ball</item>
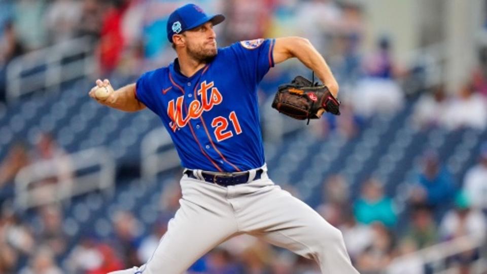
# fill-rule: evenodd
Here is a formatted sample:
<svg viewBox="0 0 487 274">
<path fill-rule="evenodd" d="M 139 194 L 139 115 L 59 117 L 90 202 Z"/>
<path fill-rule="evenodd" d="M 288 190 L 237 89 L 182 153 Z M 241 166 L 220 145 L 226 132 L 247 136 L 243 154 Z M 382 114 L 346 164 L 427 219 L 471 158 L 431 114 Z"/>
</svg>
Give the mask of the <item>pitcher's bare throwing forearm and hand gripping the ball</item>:
<svg viewBox="0 0 487 274">
<path fill-rule="evenodd" d="M 96 97 L 96 89 L 99 87 L 107 87 L 111 92 L 110 96 L 105 100 L 100 100 Z M 113 91 L 113 88 L 108 80 L 103 82 L 101 80 L 97 80 L 96 86 L 90 91 L 90 97 L 95 99 L 100 104 L 123 111 L 133 112 L 142 110 L 146 107 L 135 97 L 135 84 L 129 84 L 116 91 Z"/>
</svg>

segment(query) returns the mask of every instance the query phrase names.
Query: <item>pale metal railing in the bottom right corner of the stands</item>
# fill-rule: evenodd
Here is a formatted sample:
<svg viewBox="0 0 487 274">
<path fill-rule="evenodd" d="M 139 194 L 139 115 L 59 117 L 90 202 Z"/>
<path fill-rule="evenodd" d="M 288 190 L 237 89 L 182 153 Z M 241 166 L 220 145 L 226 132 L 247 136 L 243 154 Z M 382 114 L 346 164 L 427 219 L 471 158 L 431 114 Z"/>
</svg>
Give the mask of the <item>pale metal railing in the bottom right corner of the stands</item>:
<svg viewBox="0 0 487 274">
<path fill-rule="evenodd" d="M 397 257 L 391 261 L 384 273 L 396 273 L 395 267 L 407 261 L 421 261 L 423 265 L 431 266 L 433 273 L 451 273 L 453 270 L 445 265 L 446 259 L 475 249 L 479 250 L 480 256 L 478 260 L 471 263 L 471 267 L 475 269 L 472 273 L 485 273 L 487 271 L 485 239 L 475 236 L 464 236 Z"/>
</svg>

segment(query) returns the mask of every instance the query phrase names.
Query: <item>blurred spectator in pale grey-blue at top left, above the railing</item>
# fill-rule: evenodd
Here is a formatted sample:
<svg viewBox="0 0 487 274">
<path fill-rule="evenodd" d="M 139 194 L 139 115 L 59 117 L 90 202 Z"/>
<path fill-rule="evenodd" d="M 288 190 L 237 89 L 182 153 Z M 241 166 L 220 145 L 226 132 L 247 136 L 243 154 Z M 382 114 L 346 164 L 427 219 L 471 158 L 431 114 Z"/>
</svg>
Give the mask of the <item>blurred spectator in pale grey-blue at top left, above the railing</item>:
<svg viewBox="0 0 487 274">
<path fill-rule="evenodd" d="M 40 23 L 43 22 L 45 11 L 45 0 L 15 1 L 15 29 L 19 33 L 22 45 L 29 51 L 46 45 L 46 28 Z"/>
</svg>

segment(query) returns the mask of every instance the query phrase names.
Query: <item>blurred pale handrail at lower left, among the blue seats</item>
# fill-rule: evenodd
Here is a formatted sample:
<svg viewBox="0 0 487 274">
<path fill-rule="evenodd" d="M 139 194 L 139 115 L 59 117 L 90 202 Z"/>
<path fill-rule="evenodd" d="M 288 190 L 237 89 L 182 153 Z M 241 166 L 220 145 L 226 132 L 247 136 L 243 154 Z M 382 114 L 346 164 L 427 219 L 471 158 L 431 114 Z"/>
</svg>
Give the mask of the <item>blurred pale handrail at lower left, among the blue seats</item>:
<svg viewBox="0 0 487 274">
<path fill-rule="evenodd" d="M 71 178 L 63 176 L 49 184 L 37 185 L 42 180 L 57 177 L 58 168 L 69 174 L 81 173 Z M 94 168 L 98 168 L 93 170 Z M 41 161 L 22 168 L 15 177 L 15 204 L 23 210 L 71 199 L 93 190 L 111 193 L 115 185 L 115 160 L 106 147 L 95 147 L 57 158 Z M 39 195 L 42 198 L 39 199 Z"/>
</svg>

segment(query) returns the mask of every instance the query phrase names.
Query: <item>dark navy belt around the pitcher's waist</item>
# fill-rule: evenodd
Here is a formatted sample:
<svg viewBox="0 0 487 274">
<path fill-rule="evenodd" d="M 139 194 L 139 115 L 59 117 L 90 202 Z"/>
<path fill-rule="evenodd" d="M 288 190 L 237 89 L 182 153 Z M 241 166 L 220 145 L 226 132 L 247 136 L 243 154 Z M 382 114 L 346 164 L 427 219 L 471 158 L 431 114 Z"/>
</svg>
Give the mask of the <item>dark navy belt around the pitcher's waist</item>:
<svg viewBox="0 0 487 274">
<path fill-rule="evenodd" d="M 257 169 L 255 171 L 255 177 L 253 180 L 260 179 L 260 176 L 264 172 L 263 169 Z M 194 175 L 195 172 L 193 170 L 186 170 L 184 174 L 188 175 L 190 178 L 201 180 Z M 236 184 L 245 184 L 249 181 L 250 172 L 243 171 L 243 172 L 211 172 L 211 171 L 201 171 L 201 177 L 204 181 L 208 183 L 213 183 L 221 186 L 229 186 L 229 185 L 236 185 Z"/>
</svg>

